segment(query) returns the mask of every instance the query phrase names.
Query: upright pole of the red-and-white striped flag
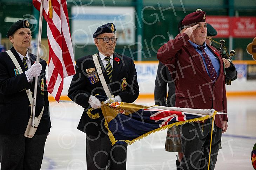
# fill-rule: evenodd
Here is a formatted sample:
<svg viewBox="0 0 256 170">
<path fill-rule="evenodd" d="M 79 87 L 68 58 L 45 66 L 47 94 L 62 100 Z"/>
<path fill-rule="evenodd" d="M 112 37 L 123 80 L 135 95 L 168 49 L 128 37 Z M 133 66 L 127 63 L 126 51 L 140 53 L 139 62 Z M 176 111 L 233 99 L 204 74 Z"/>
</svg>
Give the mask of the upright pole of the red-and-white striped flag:
<svg viewBox="0 0 256 170">
<path fill-rule="evenodd" d="M 35 61 L 36 64 L 38 64 L 39 60 L 40 60 L 42 21 L 43 21 L 43 14 L 42 13 L 43 13 L 43 0 L 41 0 L 41 4 L 40 4 L 37 53 L 36 53 L 36 61 Z M 38 87 L 38 76 L 35 77 L 34 97 L 33 97 L 33 114 L 32 114 L 32 123 L 31 123 L 32 127 L 34 127 L 34 123 L 35 123 L 35 104 L 36 104 L 37 87 Z"/>
</svg>

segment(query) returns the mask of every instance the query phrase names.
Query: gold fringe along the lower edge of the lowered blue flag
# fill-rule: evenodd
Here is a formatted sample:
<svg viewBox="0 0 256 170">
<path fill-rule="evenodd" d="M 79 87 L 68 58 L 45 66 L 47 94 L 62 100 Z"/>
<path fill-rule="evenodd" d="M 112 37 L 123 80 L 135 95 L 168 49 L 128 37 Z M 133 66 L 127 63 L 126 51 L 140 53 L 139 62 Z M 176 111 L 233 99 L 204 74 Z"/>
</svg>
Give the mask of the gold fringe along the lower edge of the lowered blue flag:
<svg viewBox="0 0 256 170">
<path fill-rule="evenodd" d="M 178 125 L 183 125 L 185 123 L 192 123 L 192 122 L 196 122 L 196 121 L 203 121 L 203 120 L 206 120 L 206 119 L 209 119 L 209 118 L 213 118 L 215 115 L 217 114 L 217 111 L 214 111 L 213 115 L 206 115 L 202 118 L 195 118 L 195 119 L 190 119 L 190 120 L 186 120 L 186 121 L 180 121 L 180 122 L 176 122 L 176 123 L 172 123 L 171 125 L 166 125 L 166 126 L 163 126 L 163 127 L 160 127 L 160 128 L 157 128 L 155 130 L 151 130 L 150 132 L 148 133 L 145 133 L 137 138 L 135 138 L 134 140 L 132 141 L 129 141 L 129 140 L 120 140 L 120 141 L 124 141 L 126 142 L 127 144 L 133 144 L 134 142 L 137 142 L 141 139 L 143 139 L 144 137 L 147 137 L 148 135 L 152 134 L 152 133 L 155 133 L 155 132 L 159 132 L 161 130 L 164 130 L 164 129 L 167 129 L 167 128 L 171 128 L 173 126 L 178 126 Z M 112 132 L 109 130 L 108 128 L 108 123 L 105 121 L 105 127 L 106 129 L 108 130 L 108 137 L 110 139 L 110 142 L 112 143 L 112 145 L 114 145 L 117 140 L 115 139 L 114 135 L 112 134 Z"/>
</svg>

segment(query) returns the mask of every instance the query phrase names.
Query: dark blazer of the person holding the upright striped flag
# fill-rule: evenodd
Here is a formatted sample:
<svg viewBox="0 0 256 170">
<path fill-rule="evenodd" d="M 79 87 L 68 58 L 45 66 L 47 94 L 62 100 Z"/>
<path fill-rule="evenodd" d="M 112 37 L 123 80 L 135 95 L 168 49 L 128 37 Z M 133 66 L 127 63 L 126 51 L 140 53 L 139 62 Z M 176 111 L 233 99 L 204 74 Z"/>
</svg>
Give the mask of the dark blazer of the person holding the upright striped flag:
<svg viewBox="0 0 256 170">
<path fill-rule="evenodd" d="M 28 82 L 20 56 L 14 47 L 11 48 L 11 51 L 19 62 L 23 73 L 15 75 L 16 67 L 12 59 L 7 52 L 0 53 L 0 134 L 23 134 L 31 115 L 31 107 L 33 107 L 30 105 L 26 90 L 30 89 L 33 96 L 35 78 L 33 78 L 32 84 Z M 31 65 L 34 64 L 36 56 L 29 53 L 29 57 Z M 35 134 L 48 133 L 51 127 L 45 78 L 46 61 L 40 59 L 40 64 L 42 65 L 42 72 L 38 77 L 35 116 L 40 114 L 43 106 L 45 108 Z"/>
</svg>

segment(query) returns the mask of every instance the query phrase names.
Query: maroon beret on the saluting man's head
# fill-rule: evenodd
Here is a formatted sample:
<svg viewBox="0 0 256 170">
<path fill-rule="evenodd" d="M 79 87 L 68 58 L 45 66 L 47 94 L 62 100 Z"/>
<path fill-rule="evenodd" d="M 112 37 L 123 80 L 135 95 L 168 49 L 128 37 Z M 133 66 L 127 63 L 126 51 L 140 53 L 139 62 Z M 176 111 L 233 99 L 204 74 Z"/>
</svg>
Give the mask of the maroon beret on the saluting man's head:
<svg viewBox="0 0 256 170">
<path fill-rule="evenodd" d="M 197 11 L 188 14 L 185 16 L 185 18 L 182 21 L 182 24 L 184 26 L 188 26 L 190 24 L 196 23 L 196 22 L 204 22 L 206 21 L 206 12 L 204 11 Z"/>
</svg>

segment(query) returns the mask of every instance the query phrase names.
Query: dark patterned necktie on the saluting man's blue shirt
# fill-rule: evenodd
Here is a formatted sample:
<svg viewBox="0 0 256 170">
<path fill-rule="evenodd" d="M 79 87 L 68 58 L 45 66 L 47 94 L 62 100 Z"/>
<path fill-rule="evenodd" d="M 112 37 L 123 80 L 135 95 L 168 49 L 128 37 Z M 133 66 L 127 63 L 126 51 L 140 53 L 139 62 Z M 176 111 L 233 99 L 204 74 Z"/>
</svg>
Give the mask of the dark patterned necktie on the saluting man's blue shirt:
<svg viewBox="0 0 256 170">
<path fill-rule="evenodd" d="M 198 45 L 197 49 L 202 51 L 202 55 L 203 55 L 204 61 L 206 63 L 206 67 L 207 67 L 207 70 L 209 72 L 209 76 L 210 76 L 211 81 L 215 81 L 218 77 L 218 74 L 217 74 L 216 70 L 214 69 L 214 66 L 213 66 L 213 63 L 211 62 L 210 57 L 204 51 L 204 47 L 205 47 L 204 45 L 203 46 Z"/>
</svg>

